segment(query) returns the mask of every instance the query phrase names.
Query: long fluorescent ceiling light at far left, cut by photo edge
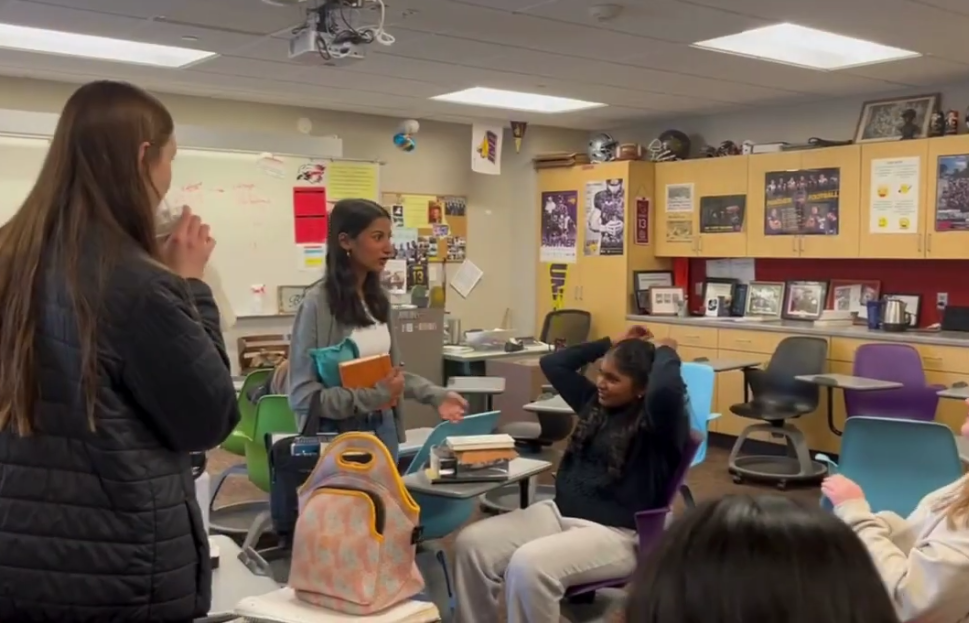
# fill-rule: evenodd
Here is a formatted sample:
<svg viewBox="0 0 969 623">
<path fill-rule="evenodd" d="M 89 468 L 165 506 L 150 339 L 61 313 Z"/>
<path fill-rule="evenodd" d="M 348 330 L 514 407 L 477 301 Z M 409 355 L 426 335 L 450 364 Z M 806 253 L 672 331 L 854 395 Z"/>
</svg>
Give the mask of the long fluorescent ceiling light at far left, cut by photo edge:
<svg viewBox="0 0 969 623">
<path fill-rule="evenodd" d="M 218 56 L 203 50 L 14 24 L 0 24 L 0 48 L 169 68 L 185 67 Z"/>
</svg>

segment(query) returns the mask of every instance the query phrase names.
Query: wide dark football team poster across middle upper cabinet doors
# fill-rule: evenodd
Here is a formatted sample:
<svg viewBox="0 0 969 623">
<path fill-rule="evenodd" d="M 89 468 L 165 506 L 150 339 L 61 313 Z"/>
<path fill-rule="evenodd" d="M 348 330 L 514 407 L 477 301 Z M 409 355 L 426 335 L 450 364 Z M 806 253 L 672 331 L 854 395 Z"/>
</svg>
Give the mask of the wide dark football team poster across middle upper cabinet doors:
<svg viewBox="0 0 969 623">
<path fill-rule="evenodd" d="M 764 176 L 764 234 L 836 236 L 840 169 L 772 171 Z"/>
</svg>

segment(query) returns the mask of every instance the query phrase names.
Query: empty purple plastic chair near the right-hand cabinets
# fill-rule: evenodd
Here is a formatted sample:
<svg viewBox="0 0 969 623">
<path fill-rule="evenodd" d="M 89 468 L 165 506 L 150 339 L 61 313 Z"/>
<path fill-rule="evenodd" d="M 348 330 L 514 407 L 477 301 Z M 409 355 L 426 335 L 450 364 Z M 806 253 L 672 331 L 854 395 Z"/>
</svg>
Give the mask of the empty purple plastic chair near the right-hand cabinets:
<svg viewBox="0 0 969 623">
<path fill-rule="evenodd" d="M 854 376 L 879 381 L 895 381 L 903 387 L 877 391 L 846 389 L 845 412 L 848 417 L 901 418 L 931 422 L 939 405 L 943 385 L 927 385 L 922 359 L 908 344 L 864 344 L 855 351 Z"/>
</svg>

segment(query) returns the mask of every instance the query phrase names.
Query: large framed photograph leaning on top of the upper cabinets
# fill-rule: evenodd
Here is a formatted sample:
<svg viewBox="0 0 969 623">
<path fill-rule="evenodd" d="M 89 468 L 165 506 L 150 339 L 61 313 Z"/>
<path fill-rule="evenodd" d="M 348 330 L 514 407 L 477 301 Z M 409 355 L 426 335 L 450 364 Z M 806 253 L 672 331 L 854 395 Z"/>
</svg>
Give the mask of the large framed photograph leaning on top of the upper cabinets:
<svg viewBox="0 0 969 623">
<path fill-rule="evenodd" d="M 897 141 L 903 134 L 926 138 L 939 100 L 938 93 L 929 93 L 865 102 L 861 105 L 861 116 L 855 128 L 855 142 Z"/>
</svg>

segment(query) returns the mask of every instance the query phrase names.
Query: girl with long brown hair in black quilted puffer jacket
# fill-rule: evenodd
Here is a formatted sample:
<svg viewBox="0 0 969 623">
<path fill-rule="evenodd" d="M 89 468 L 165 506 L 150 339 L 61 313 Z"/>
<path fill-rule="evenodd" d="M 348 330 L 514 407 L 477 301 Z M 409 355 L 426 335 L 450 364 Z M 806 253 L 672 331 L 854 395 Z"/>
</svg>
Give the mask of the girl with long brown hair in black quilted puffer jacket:
<svg viewBox="0 0 969 623">
<path fill-rule="evenodd" d="M 0 228 L 0 621 L 209 609 L 190 453 L 239 416 L 209 228 L 156 237 L 175 151 L 157 99 L 85 85 Z"/>
</svg>

